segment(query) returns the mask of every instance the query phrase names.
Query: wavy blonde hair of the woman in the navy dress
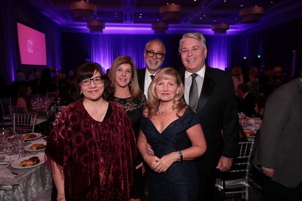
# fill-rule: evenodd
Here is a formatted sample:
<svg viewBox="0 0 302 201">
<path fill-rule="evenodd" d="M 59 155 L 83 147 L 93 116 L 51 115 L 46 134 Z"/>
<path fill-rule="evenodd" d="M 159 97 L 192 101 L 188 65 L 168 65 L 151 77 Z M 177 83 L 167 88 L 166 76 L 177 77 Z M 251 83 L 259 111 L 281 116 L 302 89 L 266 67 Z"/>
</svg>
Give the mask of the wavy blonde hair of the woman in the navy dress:
<svg viewBox="0 0 302 201">
<path fill-rule="evenodd" d="M 143 116 L 146 118 L 154 116 L 157 111 L 158 107 L 160 106 L 160 99 L 157 98 L 155 88 L 157 82 L 161 80 L 171 80 L 175 81 L 176 84 L 179 86 L 179 92 L 173 99 L 173 111 L 176 111 L 176 115 L 178 118 L 181 118 L 182 115 L 180 115 L 180 112 L 186 108 L 189 107 L 186 102 L 183 101 L 182 96 L 184 95 L 184 85 L 182 84 L 181 78 L 176 71 L 176 69 L 171 67 L 166 67 L 160 69 L 156 75 L 154 76 L 149 89 L 148 89 L 148 100 L 147 100 L 147 107 L 148 107 L 148 113 L 143 113 Z"/>
</svg>

